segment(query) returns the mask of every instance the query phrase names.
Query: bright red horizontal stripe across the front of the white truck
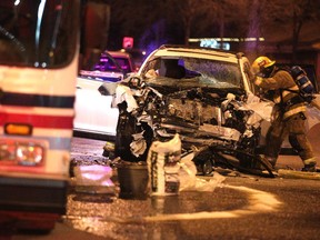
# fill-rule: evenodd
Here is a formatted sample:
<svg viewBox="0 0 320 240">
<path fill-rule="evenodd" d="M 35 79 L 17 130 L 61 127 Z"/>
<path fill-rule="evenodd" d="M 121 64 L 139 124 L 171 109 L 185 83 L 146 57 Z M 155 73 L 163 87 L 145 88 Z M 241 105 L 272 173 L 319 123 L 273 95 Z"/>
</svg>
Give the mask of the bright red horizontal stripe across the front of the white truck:
<svg viewBox="0 0 320 240">
<path fill-rule="evenodd" d="M 0 124 L 7 123 L 24 123 L 33 128 L 58 128 L 72 129 L 72 116 L 41 116 L 41 114 L 0 114 Z"/>
</svg>

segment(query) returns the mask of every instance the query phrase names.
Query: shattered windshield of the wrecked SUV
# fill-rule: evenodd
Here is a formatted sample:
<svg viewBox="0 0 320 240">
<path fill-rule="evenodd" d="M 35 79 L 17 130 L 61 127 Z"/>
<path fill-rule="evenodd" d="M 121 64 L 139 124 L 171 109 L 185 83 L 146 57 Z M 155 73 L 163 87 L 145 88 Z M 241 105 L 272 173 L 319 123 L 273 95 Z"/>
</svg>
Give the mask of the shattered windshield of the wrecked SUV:
<svg viewBox="0 0 320 240">
<path fill-rule="evenodd" d="M 147 81 L 161 86 L 241 88 L 242 77 L 236 63 L 197 58 L 157 58 L 143 71 Z"/>
</svg>

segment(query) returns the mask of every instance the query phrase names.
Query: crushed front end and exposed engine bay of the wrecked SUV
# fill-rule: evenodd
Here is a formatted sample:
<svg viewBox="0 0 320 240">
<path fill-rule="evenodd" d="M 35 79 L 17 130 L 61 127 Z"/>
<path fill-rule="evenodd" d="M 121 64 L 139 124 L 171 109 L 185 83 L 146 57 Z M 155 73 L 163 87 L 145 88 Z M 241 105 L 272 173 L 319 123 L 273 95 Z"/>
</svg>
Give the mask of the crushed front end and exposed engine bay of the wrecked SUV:
<svg viewBox="0 0 320 240">
<path fill-rule="evenodd" d="M 146 161 L 152 141 L 179 133 L 182 153 L 194 153 L 200 174 L 210 174 L 214 166 L 252 170 L 261 160 L 254 151 L 262 119 L 244 102 L 248 96 L 240 89 L 163 88 L 131 78 L 114 96 L 116 157 Z"/>
</svg>

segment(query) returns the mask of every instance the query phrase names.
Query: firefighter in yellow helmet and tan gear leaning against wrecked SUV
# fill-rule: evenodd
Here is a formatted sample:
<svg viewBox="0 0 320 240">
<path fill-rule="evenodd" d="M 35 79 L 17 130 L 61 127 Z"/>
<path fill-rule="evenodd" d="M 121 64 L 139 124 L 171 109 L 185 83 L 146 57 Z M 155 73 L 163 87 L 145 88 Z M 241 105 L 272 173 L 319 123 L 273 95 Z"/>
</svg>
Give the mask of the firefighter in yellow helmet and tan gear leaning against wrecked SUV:
<svg viewBox="0 0 320 240">
<path fill-rule="evenodd" d="M 281 144 L 289 137 L 290 144 L 303 161 L 302 171 L 316 171 L 317 160 L 304 129 L 307 107 L 294 92 L 299 90 L 294 79 L 284 69 L 278 68 L 276 61 L 263 56 L 254 60 L 252 71 L 256 73 L 254 84 L 272 96 L 276 103 L 266 137 L 264 159 L 274 167 Z"/>
</svg>

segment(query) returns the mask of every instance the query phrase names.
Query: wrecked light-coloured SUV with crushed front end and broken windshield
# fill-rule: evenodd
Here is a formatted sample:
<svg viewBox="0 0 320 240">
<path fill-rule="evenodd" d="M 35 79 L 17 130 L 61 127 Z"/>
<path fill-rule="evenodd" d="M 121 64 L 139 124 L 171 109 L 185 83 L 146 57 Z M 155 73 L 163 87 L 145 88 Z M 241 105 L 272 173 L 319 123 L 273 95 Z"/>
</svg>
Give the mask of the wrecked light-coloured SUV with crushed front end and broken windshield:
<svg viewBox="0 0 320 240">
<path fill-rule="evenodd" d="M 261 116 L 271 108 L 254 96 L 250 78 L 243 53 L 160 47 L 113 92 L 119 108 L 116 157 L 146 161 L 152 141 L 179 133 L 182 156 L 192 152 L 199 173 L 220 164 L 253 171 L 257 161 L 270 170 L 256 149 Z M 262 114 L 250 109 L 256 103 L 266 107 Z"/>
</svg>

